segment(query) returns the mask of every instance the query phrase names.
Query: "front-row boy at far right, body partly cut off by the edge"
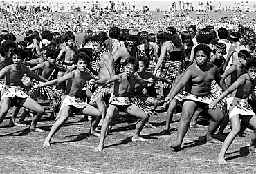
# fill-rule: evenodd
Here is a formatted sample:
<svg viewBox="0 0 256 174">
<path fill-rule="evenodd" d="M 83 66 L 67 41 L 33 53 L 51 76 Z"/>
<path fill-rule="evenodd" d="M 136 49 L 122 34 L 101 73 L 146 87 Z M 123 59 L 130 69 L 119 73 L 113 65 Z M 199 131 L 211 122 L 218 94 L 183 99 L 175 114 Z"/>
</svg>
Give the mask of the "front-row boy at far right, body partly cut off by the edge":
<svg viewBox="0 0 256 174">
<path fill-rule="evenodd" d="M 250 57 L 246 63 L 246 69 L 248 73 L 241 75 L 237 81 L 235 81 L 226 91 L 224 91 L 217 99 L 209 104 L 209 108 L 216 109 L 217 103 L 231 93 L 227 99 L 227 108 L 230 123 L 232 126 L 231 132 L 226 137 L 225 141 L 221 146 L 219 153 L 218 162 L 219 164 L 227 164 L 225 160 L 225 154 L 232 141 L 237 137 L 240 131 L 240 116 L 244 119 L 246 124 L 250 124 L 256 131 L 256 115 L 253 109 L 248 105 L 247 99 L 253 89 L 256 86 L 256 60 L 254 57 Z M 256 133 L 253 133 L 250 139 L 249 152 L 256 153 Z"/>
</svg>

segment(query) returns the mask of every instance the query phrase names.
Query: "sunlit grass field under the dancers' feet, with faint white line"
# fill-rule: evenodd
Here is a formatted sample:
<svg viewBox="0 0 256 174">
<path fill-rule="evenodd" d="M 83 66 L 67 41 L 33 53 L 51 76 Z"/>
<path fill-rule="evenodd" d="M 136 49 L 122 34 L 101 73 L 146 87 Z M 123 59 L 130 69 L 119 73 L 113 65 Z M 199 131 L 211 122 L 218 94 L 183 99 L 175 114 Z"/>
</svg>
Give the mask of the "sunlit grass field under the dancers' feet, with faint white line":
<svg viewBox="0 0 256 174">
<path fill-rule="evenodd" d="M 82 115 L 68 119 L 48 148 L 42 144 L 53 124 L 49 113 L 38 124 L 46 133 L 28 131 L 31 117 L 26 118 L 26 127 L 10 127 L 8 115 L 1 124 L 0 173 L 256 173 L 256 154 L 248 152 L 250 133 L 235 139 L 226 155 L 228 165 L 221 166 L 216 161 L 221 144 L 201 140 L 207 126 L 189 128 L 182 151 L 172 152 L 169 145 L 181 114 L 174 115 L 173 133 L 160 135 L 165 115 L 151 118 L 155 129 L 143 128 L 148 142 L 131 142 L 136 119 L 120 116 L 101 152 L 93 151 L 100 139 L 89 137 L 90 122 L 80 122 Z"/>
</svg>

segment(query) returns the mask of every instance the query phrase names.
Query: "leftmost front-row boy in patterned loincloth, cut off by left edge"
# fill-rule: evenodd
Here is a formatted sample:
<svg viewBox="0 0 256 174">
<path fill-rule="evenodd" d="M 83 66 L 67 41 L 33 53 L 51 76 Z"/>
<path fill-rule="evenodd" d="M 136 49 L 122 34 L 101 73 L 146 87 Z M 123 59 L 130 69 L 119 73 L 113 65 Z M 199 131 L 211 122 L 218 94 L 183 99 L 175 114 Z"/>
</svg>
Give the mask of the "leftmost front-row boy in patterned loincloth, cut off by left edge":
<svg viewBox="0 0 256 174">
<path fill-rule="evenodd" d="M 11 53 L 11 58 L 13 64 L 6 66 L 0 71 L 0 78 L 5 77 L 5 85 L 2 90 L 0 104 L 0 124 L 3 122 L 10 106 L 23 106 L 37 113 L 30 124 L 30 131 L 44 132 L 44 130 L 36 128 L 37 122 L 44 114 L 44 108 L 22 91 L 21 86 L 23 84 L 21 83 L 21 79 L 26 74 L 28 77 L 38 81 L 46 82 L 47 80 L 44 77 L 35 75 L 27 66 L 22 65 L 22 61 L 26 58 L 26 52 L 22 48 L 15 48 Z"/>
</svg>

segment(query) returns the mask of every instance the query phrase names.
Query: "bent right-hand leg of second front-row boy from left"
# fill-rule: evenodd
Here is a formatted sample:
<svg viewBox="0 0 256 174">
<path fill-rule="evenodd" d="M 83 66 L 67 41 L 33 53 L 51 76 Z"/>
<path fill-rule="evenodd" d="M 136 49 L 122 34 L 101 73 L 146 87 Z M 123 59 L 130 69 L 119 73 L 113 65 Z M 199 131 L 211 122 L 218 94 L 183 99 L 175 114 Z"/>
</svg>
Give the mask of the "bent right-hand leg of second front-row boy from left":
<svg viewBox="0 0 256 174">
<path fill-rule="evenodd" d="M 93 116 L 91 119 L 89 135 L 100 137 L 100 134 L 96 132 L 96 128 L 102 117 L 100 110 L 88 104 L 84 109 L 80 111 L 80 113 Z"/>
</svg>

